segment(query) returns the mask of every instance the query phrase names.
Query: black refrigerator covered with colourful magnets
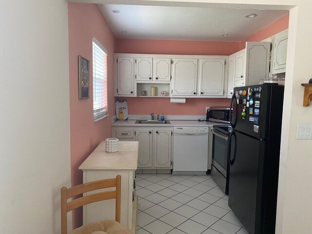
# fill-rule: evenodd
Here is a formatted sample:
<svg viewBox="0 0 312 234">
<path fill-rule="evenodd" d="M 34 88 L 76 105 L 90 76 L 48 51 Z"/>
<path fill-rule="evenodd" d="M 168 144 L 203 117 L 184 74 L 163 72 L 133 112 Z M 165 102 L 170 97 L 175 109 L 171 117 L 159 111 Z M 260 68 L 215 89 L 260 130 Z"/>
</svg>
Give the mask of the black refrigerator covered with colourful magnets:
<svg viewBox="0 0 312 234">
<path fill-rule="evenodd" d="M 234 88 L 229 206 L 249 234 L 274 234 L 284 86 Z"/>
</svg>

